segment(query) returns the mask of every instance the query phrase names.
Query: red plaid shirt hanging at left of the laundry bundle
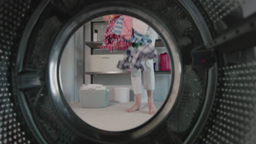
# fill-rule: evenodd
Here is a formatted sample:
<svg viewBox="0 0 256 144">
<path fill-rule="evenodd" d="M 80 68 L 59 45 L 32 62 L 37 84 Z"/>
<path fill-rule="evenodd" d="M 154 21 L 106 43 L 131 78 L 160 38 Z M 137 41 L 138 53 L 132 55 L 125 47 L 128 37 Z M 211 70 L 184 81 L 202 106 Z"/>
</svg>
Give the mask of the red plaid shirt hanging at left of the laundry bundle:
<svg viewBox="0 0 256 144">
<path fill-rule="evenodd" d="M 114 17 L 109 20 L 108 28 L 104 35 L 103 43 L 100 46 L 101 49 L 108 49 L 109 52 L 117 52 L 119 50 L 125 51 L 128 47 L 132 46 L 132 44 L 124 37 L 120 37 L 119 35 L 113 34 L 115 21 L 117 21 L 118 18 L 119 17 Z"/>
</svg>

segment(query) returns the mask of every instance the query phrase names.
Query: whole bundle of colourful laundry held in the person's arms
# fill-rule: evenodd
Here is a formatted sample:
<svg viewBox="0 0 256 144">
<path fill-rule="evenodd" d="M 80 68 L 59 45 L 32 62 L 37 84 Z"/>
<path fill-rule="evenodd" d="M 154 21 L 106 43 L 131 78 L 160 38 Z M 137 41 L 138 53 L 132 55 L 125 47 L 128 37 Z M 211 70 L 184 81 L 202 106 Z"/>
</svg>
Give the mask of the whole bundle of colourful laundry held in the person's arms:
<svg viewBox="0 0 256 144">
<path fill-rule="evenodd" d="M 126 15 L 110 15 L 108 27 L 104 35 L 101 49 L 109 52 L 126 51 L 123 61 L 119 61 L 117 68 L 142 69 L 141 61 L 153 59 L 158 56 L 152 40 L 149 39 L 149 27 L 146 23 Z M 129 47 L 137 47 L 132 54 Z"/>
</svg>

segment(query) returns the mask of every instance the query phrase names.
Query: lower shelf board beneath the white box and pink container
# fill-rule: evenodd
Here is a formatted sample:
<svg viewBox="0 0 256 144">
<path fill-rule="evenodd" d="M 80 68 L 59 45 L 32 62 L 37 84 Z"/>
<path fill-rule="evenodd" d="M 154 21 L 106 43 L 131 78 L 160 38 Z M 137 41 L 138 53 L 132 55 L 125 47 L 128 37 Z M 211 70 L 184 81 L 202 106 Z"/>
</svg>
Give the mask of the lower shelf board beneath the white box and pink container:
<svg viewBox="0 0 256 144">
<path fill-rule="evenodd" d="M 158 74 L 171 74 L 171 71 L 154 71 L 156 75 Z M 108 72 L 85 72 L 86 75 L 130 75 L 130 71 L 108 71 Z M 143 73 L 142 73 L 143 74 Z"/>
</svg>

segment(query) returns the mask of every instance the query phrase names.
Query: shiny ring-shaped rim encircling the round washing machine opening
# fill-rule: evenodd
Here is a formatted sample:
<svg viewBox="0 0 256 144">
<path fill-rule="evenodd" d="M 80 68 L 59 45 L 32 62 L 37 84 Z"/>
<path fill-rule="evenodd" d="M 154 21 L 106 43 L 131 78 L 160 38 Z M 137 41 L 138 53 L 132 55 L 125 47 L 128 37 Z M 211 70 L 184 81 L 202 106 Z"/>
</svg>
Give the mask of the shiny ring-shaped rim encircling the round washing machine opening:
<svg viewBox="0 0 256 144">
<path fill-rule="evenodd" d="M 67 121 L 73 129 L 79 131 L 81 135 L 86 137 L 106 137 L 108 136 L 108 140 L 115 142 L 119 140 L 129 140 L 131 137 L 133 139 L 137 139 L 143 135 L 146 135 L 149 131 L 152 131 L 156 128 L 168 114 L 170 113 L 174 102 L 176 101 L 179 87 L 181 85 L 181 58 L 179 56 L 179 52 L 177 49 L 176 42 L 171 35 L 170 29 L 164 25 L 164 22 L 159 20 L 157 16 L 148 13 L 147 10 L 141 10 L 137 7 L 127 8 L 122 5 L 110 5 L 109 7 L 104 7 L 101 5 L 96 5 L 95 7 L 91 7 L 75 16 L 71 19 L 67 24 L 61 29 L 60 33 L 55 38 L 53 49 L 50 51 L 49 56 L 49 92 L 51 95 L 51 99 L 53 100 L 54 106 L 61 114 L 60 116 L 64 121 Z M 91 127 L 90 125 L 84 123 L 82 119 L 78 118 L 77 115 L 71 110 L 67 101 L 65 100 L 65 95 L 63 91 L 61 91 L 61 56 L 63 50 L 65 49 L 68 40 L 71 38 L 73 33 L 77 31 L 78 28 L 82 27 L 86 22 L 91 21 L 99 16 L 111 15 L 111 14 L 121 14 L 136 17 L 137 19 L 147 23 L 150 27 L 152 27 L 162 38 L 162 42 L 167 47 L 167 52 L 170 53 L 171 59 L 171 83 L 170 83 L 170 91 L 168 91 L 167 98 L 163 104 L 163 106 L 159 109 L 159 111 L 146 123 L 140 125 L 139 127 L 123 131 L 122 133 L 118 132 L 109 132 L 104 130 L 96 129 Z M 62 87 L 63 88 L 63 87 Z M 119 136 L 119 139 L 116 139 Z M 113 139 L 111 138 L 113 137 Z M 120 138 L 121 137 L 121 138 Z M 102 140 L 105 141 L 105 140 Z"/>
</svg>

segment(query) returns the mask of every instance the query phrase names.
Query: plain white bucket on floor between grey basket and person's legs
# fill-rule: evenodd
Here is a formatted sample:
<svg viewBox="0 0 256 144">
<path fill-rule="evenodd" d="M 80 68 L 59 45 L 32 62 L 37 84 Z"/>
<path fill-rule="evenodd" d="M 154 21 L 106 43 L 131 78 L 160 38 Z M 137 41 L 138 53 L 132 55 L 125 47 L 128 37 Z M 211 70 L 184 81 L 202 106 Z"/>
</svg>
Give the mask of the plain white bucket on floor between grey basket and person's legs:
<svg viewBox="0 0 256 144">
<path fill-rule="evenodd" d="M 119 103 L 126 103 L 130 101 L 130 88 L 129 87 L 114 87 L 114 101 Z"/>
</svg>

